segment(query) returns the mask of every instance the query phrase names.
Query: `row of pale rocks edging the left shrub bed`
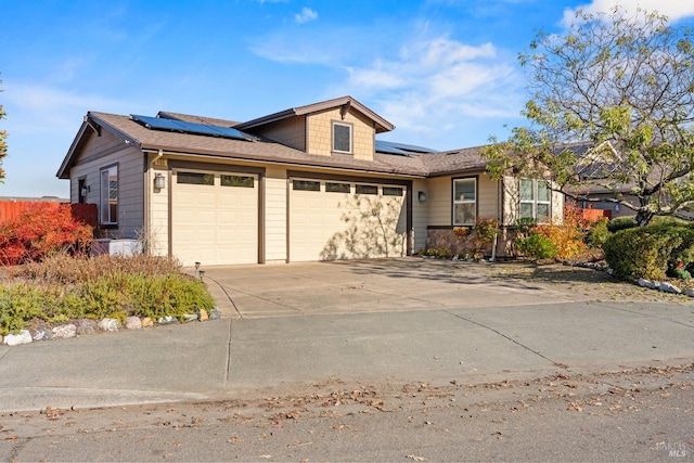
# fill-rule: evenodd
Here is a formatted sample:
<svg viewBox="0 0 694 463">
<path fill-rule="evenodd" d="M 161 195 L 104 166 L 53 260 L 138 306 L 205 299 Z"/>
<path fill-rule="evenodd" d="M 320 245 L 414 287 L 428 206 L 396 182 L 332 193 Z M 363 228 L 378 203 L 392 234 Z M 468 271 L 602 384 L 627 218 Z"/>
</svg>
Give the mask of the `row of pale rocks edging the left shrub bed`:
<svg viewBox="0 0 694 463">
<path fill-rule="evenodd" d="M 116 319 L 104 318 L 97 322 L 92 319 L 79 319 L 73 323 L 65 323 L 51 327 L 39 326 L 30 330 L 22 330 L 16 334 L 8 334 L 7 336 L 0 335 L 0 344 L 4 346 L 21 346 L 23 344 L 29 344 L 34 342 L 51 340 L 51 339 L 67 339 L 70 337 L 77 337 L 86 334 L 94 334 L 98 332 L 113 333 L 120 329 L 126 330 L 142 330 L 146 327 L 153 327 L 155 325 L 167 325 L 174 323 L 190 323 L 193 321 L 208 321 L 217 320 L 221 318 L 221 312 L 218 307 L 215 307 L 209 313 L 207 310 L 200 309 L 195 313 L 187 313 L 183 316 L 183 320 L 179 320 L 176 317 L 162 317 L 154 322 L 149 317 L 128 317 L 124 324 Z"/>
</svg>

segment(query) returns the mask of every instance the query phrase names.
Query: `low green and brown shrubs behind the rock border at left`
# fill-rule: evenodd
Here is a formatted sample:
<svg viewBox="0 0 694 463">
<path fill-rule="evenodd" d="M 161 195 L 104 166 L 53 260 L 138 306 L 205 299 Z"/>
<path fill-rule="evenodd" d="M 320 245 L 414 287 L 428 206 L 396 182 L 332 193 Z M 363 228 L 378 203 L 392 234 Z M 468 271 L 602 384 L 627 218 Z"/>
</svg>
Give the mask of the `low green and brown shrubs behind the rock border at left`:
<svg viewBox="0 0 694 463">
<path fill-rule="evenodd" d="M 215 301 L 202 281 L 175 260 L 137 255 L 70 258 L 56 255 L 25 266 L 0 285 L 0 334 L 31 320 L 48 323 L 129 316 L 182 319 Z"/>
</svg>

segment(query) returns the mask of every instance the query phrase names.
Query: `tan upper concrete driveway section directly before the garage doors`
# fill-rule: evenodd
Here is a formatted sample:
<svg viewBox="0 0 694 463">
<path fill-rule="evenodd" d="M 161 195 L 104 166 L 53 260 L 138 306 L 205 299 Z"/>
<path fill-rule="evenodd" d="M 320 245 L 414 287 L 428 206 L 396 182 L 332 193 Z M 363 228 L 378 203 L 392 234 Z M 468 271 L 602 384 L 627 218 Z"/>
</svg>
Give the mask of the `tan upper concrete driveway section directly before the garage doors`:
<svg viewBox="0 0 694 463">
<path fill-rule="evenodd" d="M 498 265 L 417 257 L 205 269 L 232 318 L 542 305 L 591 300 L 599 288 L 499 276 Z"/>
</svg>

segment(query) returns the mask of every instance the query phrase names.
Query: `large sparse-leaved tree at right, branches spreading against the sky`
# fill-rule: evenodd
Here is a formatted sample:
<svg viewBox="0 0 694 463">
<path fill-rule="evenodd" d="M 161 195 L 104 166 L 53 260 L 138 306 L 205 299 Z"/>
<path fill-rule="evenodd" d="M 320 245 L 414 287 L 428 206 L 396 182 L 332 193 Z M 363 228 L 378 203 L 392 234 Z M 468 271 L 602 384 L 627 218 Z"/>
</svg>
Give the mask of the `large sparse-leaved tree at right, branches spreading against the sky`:
<svg viewBox="0 0 694 463">
<path fill-rule="evenodd" d="M 639 226 L 694 205 L 693 38 L 620 7 L 579 11 L 563 35 L 540 31 L 519 54 L 530 124 L 491 138 L 489 172 L 545 178 L 577 201 L 608 193 Z"/>
</svg>

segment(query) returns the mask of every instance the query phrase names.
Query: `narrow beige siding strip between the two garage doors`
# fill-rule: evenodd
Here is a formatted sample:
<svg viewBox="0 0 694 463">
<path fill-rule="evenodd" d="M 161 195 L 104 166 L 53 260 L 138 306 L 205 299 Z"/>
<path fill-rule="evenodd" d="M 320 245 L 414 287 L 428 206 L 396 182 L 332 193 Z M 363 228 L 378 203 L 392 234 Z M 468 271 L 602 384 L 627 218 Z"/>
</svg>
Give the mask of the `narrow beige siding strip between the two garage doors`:
<svg viewBox="0 0 694 463">
<path fill-rule="evenodd" d="M 269 167 L 265 184 L 266 261 L 286 261 L 286 169 Z"/>
</svg>

